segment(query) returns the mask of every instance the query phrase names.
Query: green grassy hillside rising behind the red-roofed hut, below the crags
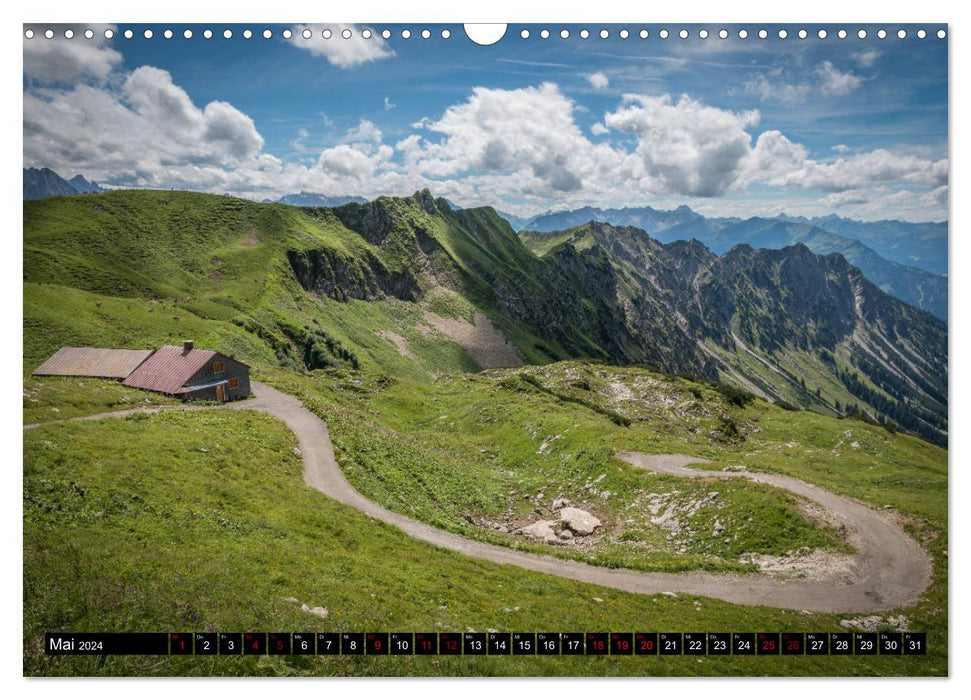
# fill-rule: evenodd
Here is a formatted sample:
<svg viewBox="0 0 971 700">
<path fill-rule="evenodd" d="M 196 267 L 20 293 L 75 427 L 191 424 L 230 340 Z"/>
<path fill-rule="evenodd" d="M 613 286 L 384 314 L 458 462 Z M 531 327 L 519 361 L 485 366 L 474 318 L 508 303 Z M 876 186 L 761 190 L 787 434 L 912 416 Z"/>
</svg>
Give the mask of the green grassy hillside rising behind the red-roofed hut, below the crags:
<svg viewBox="0 0 971 700">
<path fill-rule="evenodd" d="M 402 220 L 416 209 L 389 202 Z M 399 240 L 404 224 L 377 246 L 332 210 L 153 191 L 25 202 L 24 219 L 28 371 L 66 343 L 154 346 L 184 337 L 295 369 L 361 366 L 418 379 L 478 369 L 451 340 L 419 332 L 426 309 L 468 315 L 458 295 L 338 302 L 294 279 L 288 255 L 308 250 L 330 256 L 351 281 L 367 281 L 372 268 L 401 273 L 413 262 Z M 462 238 L 441 232 L 448 236 Z M 510 330 L 535 357 L 535 339 Z M 382 331 L 403 335 L 413 359 Z"/>
</svg>

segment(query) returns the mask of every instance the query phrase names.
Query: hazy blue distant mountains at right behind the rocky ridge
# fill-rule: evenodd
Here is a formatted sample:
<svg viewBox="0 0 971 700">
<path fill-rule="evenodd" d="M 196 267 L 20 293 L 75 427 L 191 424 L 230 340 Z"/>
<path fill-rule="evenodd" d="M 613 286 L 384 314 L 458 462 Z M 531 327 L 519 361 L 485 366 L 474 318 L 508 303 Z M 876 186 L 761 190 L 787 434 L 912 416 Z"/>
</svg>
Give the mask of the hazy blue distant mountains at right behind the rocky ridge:
<svg viewBox="0 0 971 700">
<path fill-rule="evenodd" d="M 785 214 L 743 220 L 709 218 L 687 206 L 673 210 L 584 207 L 520 220 L 516 228 L 561 231 L 588 221 L 634 226 L 663 243 L 696 239 L 719 254 L 740 243 L 753 248 L 802 243 L 821 255 L 840 253 L 888 294 L 947 320 L 946 222 L 862 222 L 835 215 L 810 220 Z"/>
</svg>

